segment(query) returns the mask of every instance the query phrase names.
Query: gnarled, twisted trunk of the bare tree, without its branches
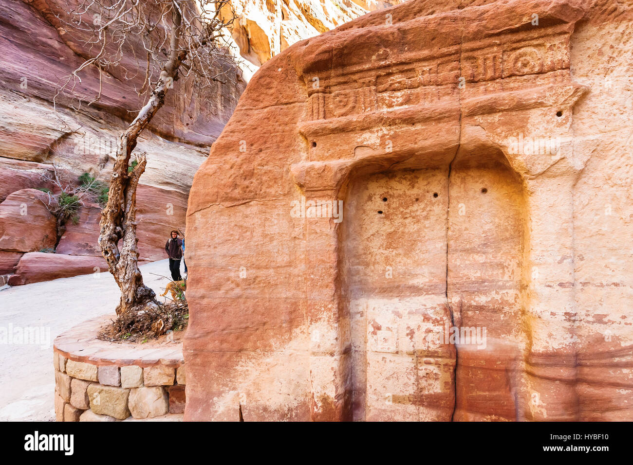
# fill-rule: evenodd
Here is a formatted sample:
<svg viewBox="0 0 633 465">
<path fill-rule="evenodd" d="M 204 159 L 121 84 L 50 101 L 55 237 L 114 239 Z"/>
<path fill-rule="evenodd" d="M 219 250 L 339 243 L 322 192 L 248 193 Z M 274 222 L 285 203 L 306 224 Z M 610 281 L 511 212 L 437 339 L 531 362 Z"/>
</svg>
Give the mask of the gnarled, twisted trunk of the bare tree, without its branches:
<svg viewBox="0 0 633 465">
<path fill-rule="evenodd" d="M 136 140 L 144 130 L 156 111 L 165 103 L 165 92 L 171 83 L 177 80 L 180 64 L 185 58 L 184 52 L 178 52 L 179 29 L 182 18 L 177 8 L 173 9 L 171 53 L 161 70 L 158 84 L 149 100 L 143 106 L 130 126 L 119 137 L 116 149 L 116 161 L 110 178 L 108 203 L 101 212 L 101 232 L 99 246 L 108 262 L 108 270 L 114 276 L 121 290 L 121 299 L 116 307 L 116 314 L 141 309 L 147 302 L 156 302 L 156 294 L 143 283 L 139 270 L 139 252 L 136 238 L 136 187 L 143 171 L 146 158 L 139 156 L 139 164 L 128 173 L 128 164 Z M 122 242 L 119 250 L 119 242 Z"/>
</svg>

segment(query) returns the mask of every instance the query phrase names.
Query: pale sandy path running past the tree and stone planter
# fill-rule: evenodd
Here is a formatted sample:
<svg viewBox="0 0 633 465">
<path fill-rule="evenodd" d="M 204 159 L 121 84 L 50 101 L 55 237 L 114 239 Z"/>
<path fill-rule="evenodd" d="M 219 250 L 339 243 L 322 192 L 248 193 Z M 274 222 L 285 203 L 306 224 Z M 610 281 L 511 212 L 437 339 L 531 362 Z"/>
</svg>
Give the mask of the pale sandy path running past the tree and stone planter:
<svg viewBox="0 0 633 465">
<path fill-rule="evenodd" d="M 169 280 L 150 273 L 169 276 L 168 261 L 144 264 L 141 271 L 146 284 L 162 294 Z M 0 290 L 0 420 L 54 420 L 54 338 L 86 319 L 114 316 L 118 295 L 108 272 Z M 38 328 L 37 344 L 4 338 L 2 328 L 15 335 L 16 328 L 27 327 Z"/>
</svg>

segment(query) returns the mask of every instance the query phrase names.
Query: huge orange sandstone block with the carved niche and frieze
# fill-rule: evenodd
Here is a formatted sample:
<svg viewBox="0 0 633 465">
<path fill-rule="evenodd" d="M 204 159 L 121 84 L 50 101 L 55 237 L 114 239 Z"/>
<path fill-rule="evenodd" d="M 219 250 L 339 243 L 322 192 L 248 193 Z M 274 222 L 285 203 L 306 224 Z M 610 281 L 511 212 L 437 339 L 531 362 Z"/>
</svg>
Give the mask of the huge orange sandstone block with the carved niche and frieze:
<svg viewBox="0 0 633 465">
<path fill-rule="evenodd" d="M 632 11 L 411 0 L 266 62 L 189 198 L 185 419 L 632 420 Z"/>
</svg>

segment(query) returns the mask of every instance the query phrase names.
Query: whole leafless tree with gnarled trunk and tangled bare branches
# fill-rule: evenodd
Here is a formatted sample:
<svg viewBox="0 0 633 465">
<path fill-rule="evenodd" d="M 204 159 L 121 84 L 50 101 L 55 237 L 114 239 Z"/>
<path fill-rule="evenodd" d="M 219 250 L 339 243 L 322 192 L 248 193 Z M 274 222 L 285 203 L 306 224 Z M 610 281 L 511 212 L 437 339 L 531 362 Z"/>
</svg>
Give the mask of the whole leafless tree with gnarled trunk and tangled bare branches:
<svg viewBox="0 0 633 465">
<path fill-rule="evenodd" d="M 96 68 L 99 77 L 104 72 L 120 72 L 116 67 L 124 57 L 135 54 L 139 44 L 146 54 L 145 66 L 136 70 L 144 75 L 144 84 L 136 90 L 146 102 L 118 139 L 108 203 L 101 213 L 99 245 L 121 290 L 117 314 L 141 309 L 148 302 L 158 303 L 154 291 L 144 285 L 138 266 L 136 188 L 147 160 L 146 154 L 136 154 L 138 163 L 130 167 L 132 151 L 165 104 L 174 82 L 192 79 L 201 96 L 217 83 L 234 82 L 235 61 L 223 28 L 230 26 L 235 15 L 227 15 L 227 8 L 232 11 L 229 0 L 79 0 L 70 11 L 53 15 L 58 29 L 83 45 L 85 59 L 61 83 L 56 100 L 60 96 L 72 99 L 82 71 Z M 130 80 L 135 77 L 125 75 Z M 87 104 L 97 104 L 99 99 L 101 78 L 98 94 Z M 75 101 L 81 105 L 85 99 Z"/>
</svg>

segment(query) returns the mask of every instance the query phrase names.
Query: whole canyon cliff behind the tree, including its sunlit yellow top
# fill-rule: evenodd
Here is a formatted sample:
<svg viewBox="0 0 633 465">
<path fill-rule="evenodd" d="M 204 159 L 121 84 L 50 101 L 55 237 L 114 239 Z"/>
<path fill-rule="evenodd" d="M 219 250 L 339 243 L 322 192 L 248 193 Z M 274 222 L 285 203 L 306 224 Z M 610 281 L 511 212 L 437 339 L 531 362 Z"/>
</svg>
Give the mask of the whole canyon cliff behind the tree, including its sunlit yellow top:
<svg viewBox="0 0 633 465">
<path fill-rule="evenodd" d="M 227 34 L 234 35 L 243 56 L 260 65 L 297 40 L 329 30 L 368 10 L 398 2 L 237 0 L 233 6 L 240 18 L 234 30 Z M 0 137 L 0 178 L 3 179 L 0 202 L 18 190 L 52 189 L 43 178 L 52 163 L 77 176 L 87 172 L 108 181 L 116 140 L 129 118 L 127 111 L 134 111 L 143 103 L 135 92 L 142 87 L 144 78 L 143 72 L 136 72 L 137 56 L 144 56 L 138 43 L 137 54 L 125 56 L 120 66 L 104 73 L 103 80 L 99 80 L 92 68 L 84 71 L 81 85 L 75 91 L 80 96 L 92 97 L 101 90 L 96 104 L 74 111 L 62 99 L 57 102 L 55 113 L 52 99 L 58 80 L 82 63 L 80 56 L 91 53 L 80 40 L 70 38 L 80 36 L 81 32 L 69 34 L 60 27 L 56 15 L 63 10 L 63 4 L 61 0 L 0 4 L 0 47 L 4 51 L 0 58 L 3 82 L 0 89 L 0 133 L 3 135 Z M 253 71 L 254 68 L 248 72 Z M 125 80 L 126 75 L 134 78 Z M 139 139 L 137 151 L 149 154 L 137 195 L 141 261 L 165 257 L 163 245 L 168 232 L 173 228 L 184 230 L 193 174 L 232 115 L 245 85 L 239 75 L 241 71 L 236 68 L 237 84 L 218 84 L 211 92 L 216 97 L 207 99 L 204 106 L 191 83 L 187 79 L 179 80 L 173 92 L 168 93 L 165 106 Z M 75 128 L 79 130 L 73 133 Z M 99 207 L 86 204 L 80 211 L 78 224 L 68 223 L 56 252 L 100 256 L 99 219 Z M 55 242 L 50 236 L 39 237 L 41 231 L 37 229 L 28 230 L 20 224 L 16 230 L 18 226 L 27 239 L 38 237 L 47 245 Z M 9 268 L 16 264 L 11 264 L 15 257 L 2 258 L 3 251 L 9 250 L 11 245 L 15 244 L 4 244 L 0 239 L 0 266 L 6 270 L 0 273 L 10 273 Z M 47 247 L 23 252 L 41 248 Z M 56 276 L 53 271 L 47 279 Z M 27 282 L 34 280 L 14 279 L 12 285 Z"/>
</svg>

